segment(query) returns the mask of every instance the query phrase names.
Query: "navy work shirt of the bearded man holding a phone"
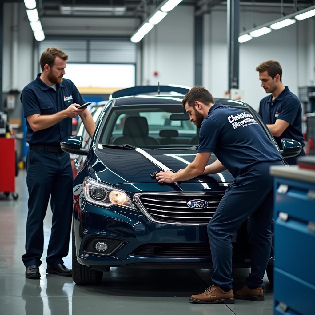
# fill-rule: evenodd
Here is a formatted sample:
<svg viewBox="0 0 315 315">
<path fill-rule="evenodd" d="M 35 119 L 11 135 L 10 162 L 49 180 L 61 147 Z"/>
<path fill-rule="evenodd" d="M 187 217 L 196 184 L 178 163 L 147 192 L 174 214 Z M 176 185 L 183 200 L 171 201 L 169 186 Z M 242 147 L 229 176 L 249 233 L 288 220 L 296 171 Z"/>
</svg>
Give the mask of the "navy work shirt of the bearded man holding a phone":
<svg viewBox="0 0 315 315">
<path fill-rule="evenodd" d="M 85 100 L 80 95 L 71 80 L 63 79 L 56 84 L 56 91 L 40 79 L 27 84 L 21 94 L 24 117 L 40 114 L 51 115 L 61 112 L 73 103 L 84 104 Z M 72 134 L 72 118 L 67 117 L 46 129 L 34 132 L 26 119 L 26 142 L 29 144 L 60 145 L 60 141 Z"/>
</svg>

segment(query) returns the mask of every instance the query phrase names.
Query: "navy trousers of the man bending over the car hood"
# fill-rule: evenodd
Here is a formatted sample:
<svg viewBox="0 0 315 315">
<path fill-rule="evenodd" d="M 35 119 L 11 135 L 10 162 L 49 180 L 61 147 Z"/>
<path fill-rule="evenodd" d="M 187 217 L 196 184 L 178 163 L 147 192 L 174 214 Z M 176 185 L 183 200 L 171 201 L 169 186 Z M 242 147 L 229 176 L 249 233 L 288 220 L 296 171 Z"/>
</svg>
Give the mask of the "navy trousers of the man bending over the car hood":
<svg viewBox="0 0 315 315">
<path fill-rule="evenodd" d="M 250 218 L 253 240 L 251 272 L 246 284 L 260 287 L 263 283 L 271 250 L 273 216 L 273 178 L 271 165 L 283 162 L 257 163 L 239 175 L 223 196 L 208 224 L 214 284 L 232 289 L 232 237 Z"/>
</svg>

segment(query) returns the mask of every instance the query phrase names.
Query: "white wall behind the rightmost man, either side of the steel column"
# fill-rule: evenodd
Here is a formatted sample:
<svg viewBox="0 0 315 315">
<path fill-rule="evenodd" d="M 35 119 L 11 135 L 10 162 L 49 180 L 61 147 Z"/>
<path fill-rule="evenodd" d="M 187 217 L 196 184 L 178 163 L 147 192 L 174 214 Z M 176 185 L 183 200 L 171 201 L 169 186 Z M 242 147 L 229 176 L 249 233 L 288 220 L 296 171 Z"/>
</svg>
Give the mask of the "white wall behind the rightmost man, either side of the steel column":
<svg viewBox="0 0 315 315">
<path fill-rule="evenodd" d="M 256 13 L 255 24 L 259 26 L 278 17 L 278 13 Z M 240 20 L 241 29 L 252 27 L 251 14 L 242 14 Z M 314 20 L 308 19 L 240 44 L 239 88 L 244 90 L 246 102 L 257 109 L 261 98 L 266 96 L 255 71 L 256 66 L 265 60 L 280 62 L 282 81 L 296 95 L 298 86 L 311 83 L 315 66 L 314 28 Z M 226 38 L 226 12 L 214 10 L 205 15 L 203 85 L 214 97 L 225 97 L 228 89 Z"/>
</svg>

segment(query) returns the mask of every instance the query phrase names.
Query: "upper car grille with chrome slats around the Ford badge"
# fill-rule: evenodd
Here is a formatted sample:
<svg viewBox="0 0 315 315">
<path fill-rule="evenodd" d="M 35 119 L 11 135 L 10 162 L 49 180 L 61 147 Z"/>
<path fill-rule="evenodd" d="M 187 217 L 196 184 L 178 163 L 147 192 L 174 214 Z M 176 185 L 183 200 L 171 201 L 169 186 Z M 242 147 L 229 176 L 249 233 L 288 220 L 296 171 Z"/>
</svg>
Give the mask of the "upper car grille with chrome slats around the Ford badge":
<svg viewBox="0 0 315 315">
<path fill-rule="evenodd" d="M 215 195 L 183 195 L 183 194 L 135 194 L 140 201 L 140 209 L 149 219 L 168 224 L 207 224 L 215 213 L 223 193 Z M 208 202 L 204 209 L 192 209 L 187 202 L 200 199 Z"/>
</svg>

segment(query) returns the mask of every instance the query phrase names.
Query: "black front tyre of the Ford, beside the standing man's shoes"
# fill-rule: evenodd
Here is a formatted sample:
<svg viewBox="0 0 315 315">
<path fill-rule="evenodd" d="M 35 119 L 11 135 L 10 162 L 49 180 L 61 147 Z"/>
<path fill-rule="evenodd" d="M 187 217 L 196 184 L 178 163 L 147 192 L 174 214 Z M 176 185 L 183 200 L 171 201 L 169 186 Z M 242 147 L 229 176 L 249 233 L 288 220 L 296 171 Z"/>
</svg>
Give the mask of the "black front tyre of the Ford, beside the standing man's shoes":
<svg viewBox="0 0 315 315">
<path fill-rule="evenodd" d="M 76 284 L 99 284 L 103 278 L 102 271 L 96 271 L 90 267 L 81 265 L 77 261 L 76 242 L 74 238 L 74 224 L 72 223 L 72 279 Z"/>
</svg>

